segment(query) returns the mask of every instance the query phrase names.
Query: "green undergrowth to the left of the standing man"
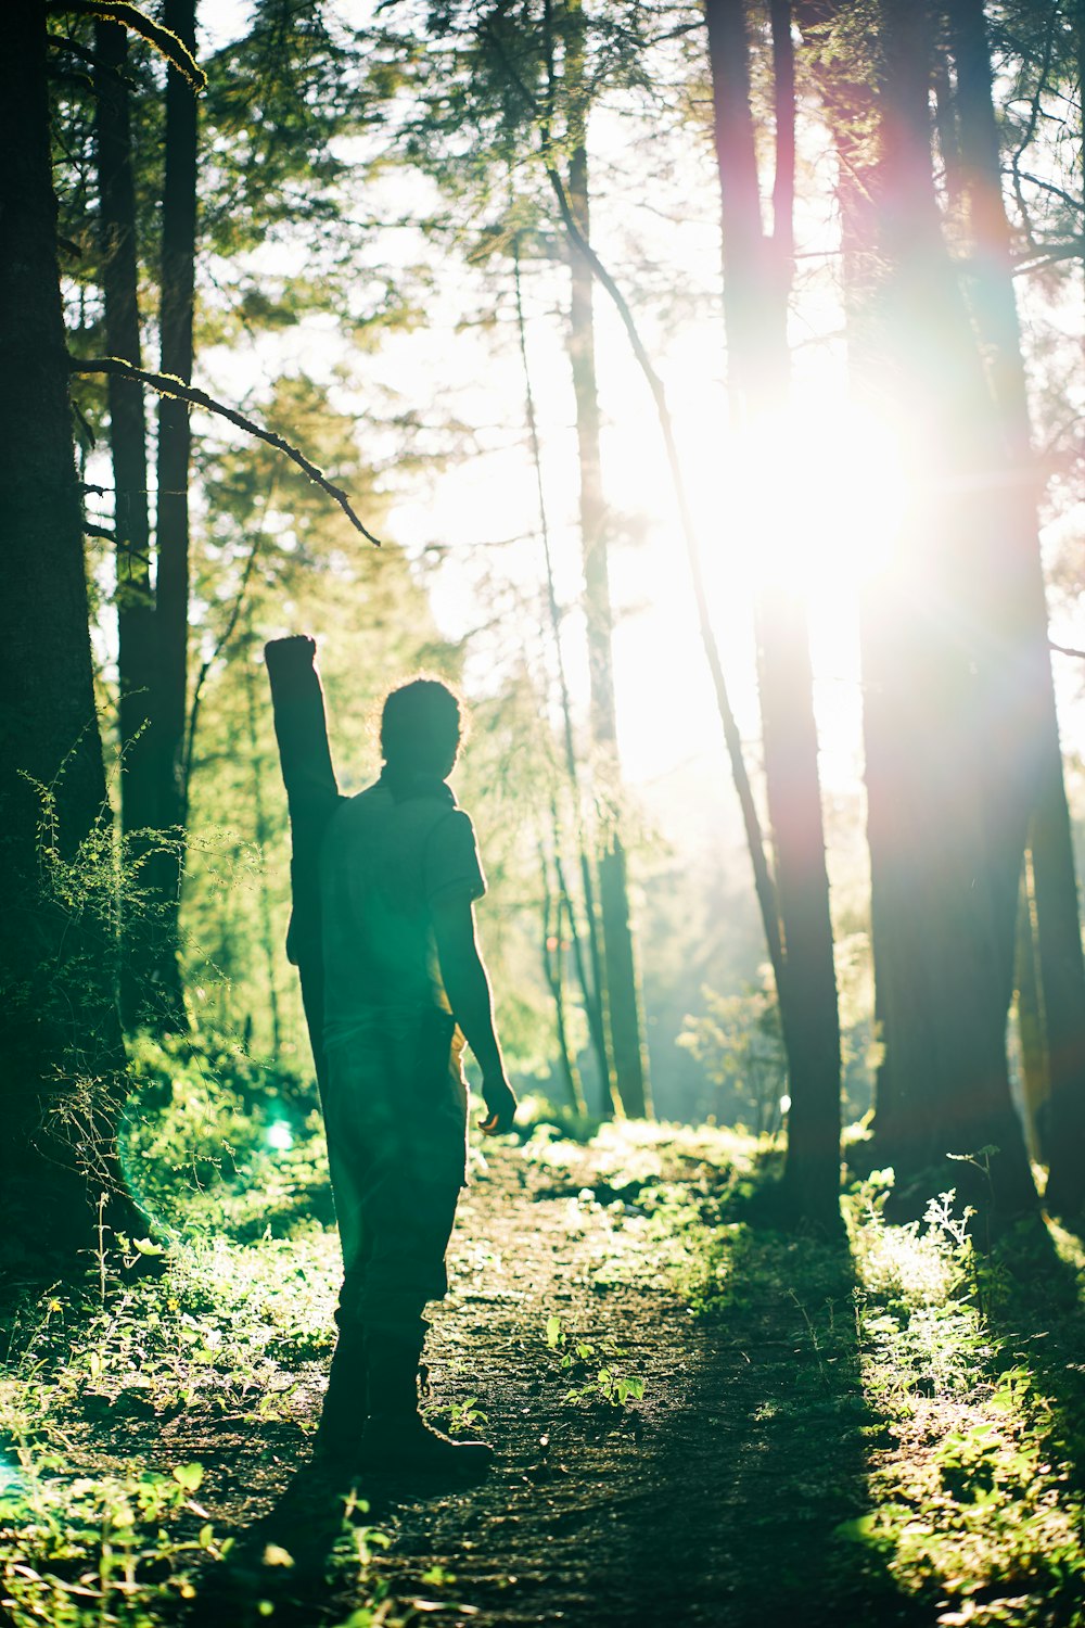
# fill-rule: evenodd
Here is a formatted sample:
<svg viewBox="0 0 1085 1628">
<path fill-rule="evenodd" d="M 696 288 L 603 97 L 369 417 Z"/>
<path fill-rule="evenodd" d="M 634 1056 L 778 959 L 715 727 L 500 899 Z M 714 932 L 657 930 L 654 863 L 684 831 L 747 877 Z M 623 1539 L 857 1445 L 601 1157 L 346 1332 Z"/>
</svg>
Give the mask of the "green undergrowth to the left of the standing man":
<svg viewBox="0 0 1085 1628">
<path fill-rule="evenodd" d="M 133 1076 L 122 1153 L 150 1236 L 102 1236 L 81 1284 L 28 1288 L 0 1317 L 0 1618 L 16 1628 L 198 1620 L 233 1537 L 184 1442 L 259 1457 L 286 1433 L 307 1457 L 330 1354 L 340 1265 L 312 1086 L 215 1035 L 142 1039 Z M 342 1525 L 364 1569 L 374 1530 L 358 1509 Z M 280 1545 L 257 1561 L 252 1612 L 293 1566 Z"/>
</svg>

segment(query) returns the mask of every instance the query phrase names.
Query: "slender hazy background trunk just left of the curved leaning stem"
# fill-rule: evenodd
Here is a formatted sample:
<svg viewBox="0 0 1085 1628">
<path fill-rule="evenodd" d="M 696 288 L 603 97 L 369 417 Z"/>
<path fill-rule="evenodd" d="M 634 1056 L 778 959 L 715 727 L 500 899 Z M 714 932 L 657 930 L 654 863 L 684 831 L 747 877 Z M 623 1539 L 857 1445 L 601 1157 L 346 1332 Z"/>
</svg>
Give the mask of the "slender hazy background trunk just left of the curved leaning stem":
<svg viewBox="0 0 1085 1628">
<path fill-rule="evenodd" d="M 571 8 L 573 15 L 573 8 Z M 587 147 L 584 130 L 582 47 L 576 31 L 566 46 L 566 98 L 569 104 L 569 205 L 582 234 L 590 241 Z M 599 386 L 595 379 L 595 319 L 592 270 L 576 246 L 569 246 L 569 360 L 576 397 L 576 440 L 581 472 L 581 542 L 584 550 L 584 596 L 587 619 L 587 663 L 590 677 L 590 723 L 600 798 L 602 832 L 599 848 L 599 912 L 602 923 L 607 1016 L 618 1094 L 626 1114 L 651 1114 L 647 1061 L 644 1053 L 641 1003 L 630 925 L 630 891 L 625 847 L 618 816 L 618 733 L 613 692 L 613 614 L 607 557 L 607 505 L 602 485 L 599 435 Z"/>
</svg>

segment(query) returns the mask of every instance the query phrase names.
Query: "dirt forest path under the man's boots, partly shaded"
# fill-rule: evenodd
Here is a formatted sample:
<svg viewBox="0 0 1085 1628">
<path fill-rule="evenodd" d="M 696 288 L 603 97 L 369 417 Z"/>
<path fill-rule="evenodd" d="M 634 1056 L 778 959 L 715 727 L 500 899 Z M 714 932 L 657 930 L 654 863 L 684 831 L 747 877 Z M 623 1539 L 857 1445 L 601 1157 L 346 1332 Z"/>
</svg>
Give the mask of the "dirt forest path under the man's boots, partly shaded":
<svg viewBox="0 0 1085 1628">
<path fill-rule="evenodd" d="M 553 1166 L 498 1146 L 486 1164 L 464 1195 L 429 1363 L 436 1420 L 477 1397 L 496 1465 L 467 1488 L 359 1485 L 369 1512 L 355 1511 L 351 1542 L 346 1490 L 306 1468 L 290 1477 L 296 1438 L 273 1451 L 260 1431 L 259 1467 L 236 1462 L 229 1490 L 190 1418 L 216 1534 L 236 1534 L 194 1620 L 340 1625 L 359 1610 L 361 1628 L 382 1582 L 392 1620 L 478 1628 L 916 1621 L 877 1568 L 838 1563 L 836 1527 L 867 1508 L 869 1415 L 857 1371 L 821 1358 L 802 1294 L 752 1273 L 724 1315 L 695 1319 L 669 1267 L 673 1237 L 628 1171 L 615 1192 L 590 1149 Z M 665 1171 L 701 1192 L 714 1174 L 673 1151 Z M 564 1346 L 547 1343 L 553 1317 Z M 574 1340 L 594 1353 L 563 1369 Z M 569 1398 L 608 1358 L 644 1382 L 643 1398 Z M 319 1407 L 316 1377 L 301 1405 Z M 368 1542 L 363 1522 L 390 1545 Z M 267 1565 L 268 1545 L 291 1563 Z"/>
</svg>

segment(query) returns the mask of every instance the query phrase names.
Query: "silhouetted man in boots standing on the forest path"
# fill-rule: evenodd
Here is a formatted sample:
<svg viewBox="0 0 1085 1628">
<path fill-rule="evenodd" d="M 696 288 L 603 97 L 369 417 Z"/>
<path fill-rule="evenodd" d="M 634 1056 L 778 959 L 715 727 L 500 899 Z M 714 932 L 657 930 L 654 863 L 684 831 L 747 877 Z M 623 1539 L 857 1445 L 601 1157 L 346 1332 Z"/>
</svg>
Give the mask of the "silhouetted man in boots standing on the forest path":
<svg viewBox="0 0 1085 1628">
<path fill-rule="evenodd" d="M 371 1470 L 491 1457 L 431 1429 L 416 1382 L 465 1182 L 464 1037 L 481 1068 L 483 1131 L 508 1131 L 516 1110 L 475 943 L 486 884 L 446 785 L 459 744 L 444 684 L 392 690 L 381 778 L 338 804 L 320 850 L 324 1117 L 345 1276 L 317 1452 Z"/>
</svg>

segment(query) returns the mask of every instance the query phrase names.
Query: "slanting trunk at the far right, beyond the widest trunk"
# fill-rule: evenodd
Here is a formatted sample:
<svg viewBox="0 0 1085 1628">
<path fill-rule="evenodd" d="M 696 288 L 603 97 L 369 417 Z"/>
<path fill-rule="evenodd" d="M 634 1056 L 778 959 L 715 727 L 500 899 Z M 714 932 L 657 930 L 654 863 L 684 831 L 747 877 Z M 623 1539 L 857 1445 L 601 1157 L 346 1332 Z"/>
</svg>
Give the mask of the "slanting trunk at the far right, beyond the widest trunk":
<svg viewBox="0 0 1085 1628">
<path fill-rule="evenodd" d="M 1035 752 L 1035 773 L 1022 777 L 1013 801 L 1035 809 L 1031 825 L 1039 977 L 1048 1027 L 1051 1177 L 1048 1203 L 1061 1213 L 1085 1208 L 1085 961 L 1070 821 L 1062 777 L 1059 723 L 1048 648 L 1036 474 L 1022 335 L 1013 293 L 1010 228 L 1002 199 L 999 132 L 991 94 L 991 52 L 981 0 L 950 0 L 956 63 L 960 158 L 971 236 L 970 293 L 994 407 L 1000 417 L 991 480 L 999 487 L 1005 563 L 997 622 L 1018 650 L 996 682 L 1012 681 L 1005 718 Z M 1009 470 L 1009 480 L 1005 472 Z M 991 804 L 1005 817 L 1007 796 Z M 1020 811 L 1009 832 L 1017 843 Z M 997 837 L 996 837 L 997 840 Z M 1007 868 L 1012 864 L 1012 856 Z"/>
</svg>

